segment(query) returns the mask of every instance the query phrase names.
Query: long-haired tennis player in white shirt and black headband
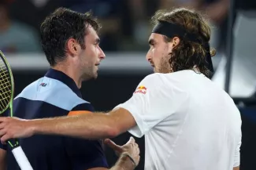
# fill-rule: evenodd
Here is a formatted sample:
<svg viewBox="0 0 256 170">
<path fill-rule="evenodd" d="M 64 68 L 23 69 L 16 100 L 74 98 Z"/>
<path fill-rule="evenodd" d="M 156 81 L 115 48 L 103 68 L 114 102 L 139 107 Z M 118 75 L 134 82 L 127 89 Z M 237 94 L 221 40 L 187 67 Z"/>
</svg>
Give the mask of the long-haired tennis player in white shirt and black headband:
<svg viewBox="0 0 256 170">
<path fill-rule="evenodd" d="M 241 118 L 232 98 L 210 81 L 210 27 L 188 9 L 160 11 L 152 20 L 147 60 L 155 73 L 127 102 L 107 114 L 0 118 L 2 142 L 35 134 L 102 139 L 128 131 L 145 136 L 145 170 L 238 170 Z"/>
</svg>

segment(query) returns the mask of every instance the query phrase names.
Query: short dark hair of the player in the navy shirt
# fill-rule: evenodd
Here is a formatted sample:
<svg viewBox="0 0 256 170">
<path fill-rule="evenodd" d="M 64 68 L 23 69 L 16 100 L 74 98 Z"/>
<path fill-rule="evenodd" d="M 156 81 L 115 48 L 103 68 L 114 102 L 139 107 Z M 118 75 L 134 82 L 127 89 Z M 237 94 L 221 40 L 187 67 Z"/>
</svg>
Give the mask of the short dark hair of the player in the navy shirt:
<svg viewBox="0 0 256 170">
<path fill-rule="evenodd" d="M 40 34 L 43 52 L 50 66 L 65 60 L 66 42 L 69 38 L 76 39 L 81 47 L 85 48 L 84 36 L 87 34 L 88 25 L 97 32 L 100 29 L 97 19 L 91 12 L 76 13 L 61 7 L 46 17 L 41 24 Z"/>
</svg>

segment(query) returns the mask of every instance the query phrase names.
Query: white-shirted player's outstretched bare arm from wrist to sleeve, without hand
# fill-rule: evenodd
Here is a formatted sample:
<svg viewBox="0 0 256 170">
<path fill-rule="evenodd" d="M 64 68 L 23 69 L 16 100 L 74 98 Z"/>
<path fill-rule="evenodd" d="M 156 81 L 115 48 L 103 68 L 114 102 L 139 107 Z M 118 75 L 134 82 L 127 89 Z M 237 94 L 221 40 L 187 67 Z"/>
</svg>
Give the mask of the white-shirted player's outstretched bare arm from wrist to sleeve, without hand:
<svg viewBox="0 0 256 170">
<path fill-rule="evenodd" d="M 117 109 L 108 114 L 91 113 L 73 117 L 49 118 L 31 121 L 36 134 L 55 134 L 102 139 L 118 136 L 135 126 L 128 110 Z"/>
</svg>

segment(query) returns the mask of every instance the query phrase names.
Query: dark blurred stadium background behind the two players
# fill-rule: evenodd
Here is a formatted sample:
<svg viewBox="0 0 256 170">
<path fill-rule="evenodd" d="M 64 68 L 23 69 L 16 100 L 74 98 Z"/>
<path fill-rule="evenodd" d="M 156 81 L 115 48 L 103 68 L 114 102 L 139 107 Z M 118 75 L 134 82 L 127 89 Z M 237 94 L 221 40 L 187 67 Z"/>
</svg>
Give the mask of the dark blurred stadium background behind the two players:
<svg viewBox="0 0 256 170">
<path fill-rule="evenodd" d="M 106 60 L 102 61 L 98 79 L 84 82 L 81 90 L 83 99 L 90 101 L 96 110 L 105 111 L 129 99 L 139 81 L 152 73 L 145 56 L 151 31 L 149 20 L 155 11 L 187 7 L 202 12 L 212 27 L 210 45 L 217 49 L 213 57 L 213 81 L 232 96 L 243 119 L 240 169 L 256 169 L 256 1 L 0 0 L 0 49 L 13 69 L 15 95 L 49 68 L 40 47 L 39 26 L 60 6 L 80 13 L 92 10 L 102 23 L 100 45 L 106 52 Z M 129 136 L 124 133 L 114 141 L 124 144 Z M 136 168 L 140 170 L 144 164 L 144 139 L 136 141 L 142 153 Z M 117 160 L 113 151 L 106 148 L 106 155 L 109 165 L 113 165 Z"/>
</svg>

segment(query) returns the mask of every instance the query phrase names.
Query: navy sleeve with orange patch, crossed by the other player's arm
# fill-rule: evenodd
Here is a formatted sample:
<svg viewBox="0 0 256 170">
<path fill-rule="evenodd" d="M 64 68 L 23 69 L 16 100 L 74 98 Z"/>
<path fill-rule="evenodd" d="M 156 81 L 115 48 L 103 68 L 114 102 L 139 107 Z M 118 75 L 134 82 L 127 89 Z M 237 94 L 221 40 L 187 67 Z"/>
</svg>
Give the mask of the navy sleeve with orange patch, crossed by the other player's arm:
<svg viewBox="0 0 256 170">
<path fill-rule="evenodd" d="M 91 103 L 82 103 L 74 107 L 69 115 L 87 114 L 94 111 Z M 72 170 L 89 168 L 108 168 L 101 140 L 77 139 L 64 137 L 65 150 L 72 162 Z"/>
</svg>

